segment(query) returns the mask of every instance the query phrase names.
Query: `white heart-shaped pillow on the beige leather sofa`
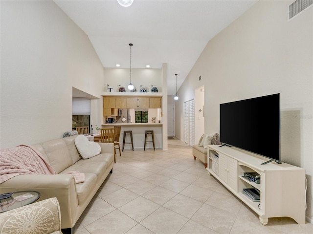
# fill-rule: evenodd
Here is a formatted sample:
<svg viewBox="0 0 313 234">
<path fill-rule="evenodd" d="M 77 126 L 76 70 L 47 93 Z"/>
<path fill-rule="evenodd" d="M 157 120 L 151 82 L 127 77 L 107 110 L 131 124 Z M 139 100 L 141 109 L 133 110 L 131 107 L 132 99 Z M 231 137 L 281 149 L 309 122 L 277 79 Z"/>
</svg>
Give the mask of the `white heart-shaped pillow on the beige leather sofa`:
<svg viewBox="0 0 313 234">
<path fill-rule="evenodd" d="M 98 155 L 101 152 L 100 145 L 93 141 L 89 141 L 84 135 L 78 135 L 74 141 L 78 152 L 85 159 Z"/>
</svg>

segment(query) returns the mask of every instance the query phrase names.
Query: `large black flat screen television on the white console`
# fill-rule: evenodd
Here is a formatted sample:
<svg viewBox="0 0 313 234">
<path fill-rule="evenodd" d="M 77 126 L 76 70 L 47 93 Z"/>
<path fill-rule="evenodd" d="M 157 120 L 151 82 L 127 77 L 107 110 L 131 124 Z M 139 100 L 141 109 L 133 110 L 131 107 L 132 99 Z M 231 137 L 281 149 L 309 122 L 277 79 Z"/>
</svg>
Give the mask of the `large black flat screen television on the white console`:
<svg viewBox="0 0 313 234">
<path fill-rule="evenodd" d="M 220 104 L 220 141 L 280 163 L 280 94 Z"/>
</svg>

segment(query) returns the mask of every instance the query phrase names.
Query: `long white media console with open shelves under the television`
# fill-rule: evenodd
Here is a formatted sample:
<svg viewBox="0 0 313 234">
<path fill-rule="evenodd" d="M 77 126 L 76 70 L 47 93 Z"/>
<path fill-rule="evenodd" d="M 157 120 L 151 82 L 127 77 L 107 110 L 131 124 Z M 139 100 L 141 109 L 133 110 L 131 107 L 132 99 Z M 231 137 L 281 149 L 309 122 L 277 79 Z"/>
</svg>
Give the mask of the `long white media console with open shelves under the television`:
<svg viewBox="0 0 313 234">
<path fill-rule="evenodd" d="M 208 174 L 257 213 L 263 225 L 270 217 L 291 217 L 298 224 L 305 223 L 304 169 L 287 163 L 261 165 L 268 158 L 235 147 L 208 145 L 208 150 Z M 260 184 L 242 177 L 245 172 L 259 173 Z M 260 201 L 254 202 L 243 194 L 246 188 L 259 190 Z"/>
</svg>

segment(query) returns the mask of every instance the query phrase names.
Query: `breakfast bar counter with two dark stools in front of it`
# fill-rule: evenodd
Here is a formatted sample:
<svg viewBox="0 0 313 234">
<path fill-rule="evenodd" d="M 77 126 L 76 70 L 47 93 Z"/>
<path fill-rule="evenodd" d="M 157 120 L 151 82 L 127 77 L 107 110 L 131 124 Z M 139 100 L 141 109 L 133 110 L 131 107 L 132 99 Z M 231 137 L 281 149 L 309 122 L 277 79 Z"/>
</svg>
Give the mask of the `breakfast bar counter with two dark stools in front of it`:
<svg viewBox="0 0 313 234">
<path fill-rule="evenodd" d="M 123 132 L 133 131 L 134 149 L 143 149 L 145 142 L 145 131 L 153 130 L 155 137 L 156 149 L 162 149 L 162 123 L 117 123 L 117 124 L 102 124 L 102 128 L 113 128 L 121 126 L 121 134 L 119 137 L 120 145 L 123 144 Z M 124 150 L 132 149 L 131 145 L 125 145 Z M 153 149 L 152 144 L 146 146 L 147 149 Z"/>
</svg>

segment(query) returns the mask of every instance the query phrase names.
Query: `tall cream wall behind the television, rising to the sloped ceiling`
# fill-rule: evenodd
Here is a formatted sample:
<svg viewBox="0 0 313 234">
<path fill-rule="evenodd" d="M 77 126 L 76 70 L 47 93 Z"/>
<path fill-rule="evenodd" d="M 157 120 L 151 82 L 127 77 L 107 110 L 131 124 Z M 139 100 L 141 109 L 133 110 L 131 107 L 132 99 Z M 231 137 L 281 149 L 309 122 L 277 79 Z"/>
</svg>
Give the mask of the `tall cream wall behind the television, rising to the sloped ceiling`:
<svg viewBox="0 0 313 234">
<path fill-rule="evenodd" d="M 219 132 L 221 103 L 281 93 L 281 160 L 306 169 L 313 222 L 313 7 L 288 22 L 291 2 L 258 1 L 207 43 L 179 88 L 176 134 L 183 139 L 183 102 L 201 85 L 205 132 Z"/>
</svg>

